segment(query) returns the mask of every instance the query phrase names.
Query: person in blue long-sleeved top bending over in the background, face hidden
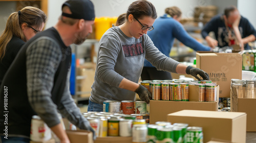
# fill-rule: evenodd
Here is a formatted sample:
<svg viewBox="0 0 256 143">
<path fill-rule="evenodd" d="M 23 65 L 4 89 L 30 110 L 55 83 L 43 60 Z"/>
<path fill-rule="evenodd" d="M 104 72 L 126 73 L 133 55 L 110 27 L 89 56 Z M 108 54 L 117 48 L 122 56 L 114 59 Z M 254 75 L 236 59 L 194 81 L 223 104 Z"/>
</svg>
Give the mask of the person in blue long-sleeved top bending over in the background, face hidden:
<svg viewBox="0 0 256 143">
<path fill-rule="evenodd" d="M 177 38 L 183 44 L 195 51 L 210 51 L 209 46 L 205 46 L 195 40 L 185 31 L 181 23 L 182 12 L 178 7 L 168 7 L 165 14 L 156 19 L 154 22 L 155 30 L 148 32 L 147 35 L 154 42 L 155 46 L 165 56 L 169 57 L 170 50 Z M 167 71 L 157 70 L 150 61 L 144 61 L 144 67 L 141 73 L 142 80 L 172 80 L 172 76 Z"/>
</svg>

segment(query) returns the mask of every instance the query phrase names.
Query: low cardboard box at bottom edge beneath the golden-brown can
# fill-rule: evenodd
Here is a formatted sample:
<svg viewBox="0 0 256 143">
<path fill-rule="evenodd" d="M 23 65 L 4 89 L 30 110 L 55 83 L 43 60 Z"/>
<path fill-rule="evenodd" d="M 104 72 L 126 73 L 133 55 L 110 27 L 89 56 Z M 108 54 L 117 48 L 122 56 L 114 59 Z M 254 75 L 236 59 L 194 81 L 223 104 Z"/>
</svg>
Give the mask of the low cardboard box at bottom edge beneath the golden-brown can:
<svg viewBox="0 0 256 143">
<path fill-rule="evenodd" d="M 94 143 L 132 143 L 133 137 L 107 136 L 97 137 Z"/>
</svg>

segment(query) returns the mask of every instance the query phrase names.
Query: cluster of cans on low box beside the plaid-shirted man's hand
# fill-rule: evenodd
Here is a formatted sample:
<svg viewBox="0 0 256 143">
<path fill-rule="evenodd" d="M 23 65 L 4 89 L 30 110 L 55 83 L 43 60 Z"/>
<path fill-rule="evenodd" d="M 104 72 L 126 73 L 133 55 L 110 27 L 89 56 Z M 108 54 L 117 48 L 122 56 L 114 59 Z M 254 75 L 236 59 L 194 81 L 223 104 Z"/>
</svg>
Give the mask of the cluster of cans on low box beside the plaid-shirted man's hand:
<svg viewBox="0 0 256 143">
<path fill-rule="evenodd" d="M 141 114 L 120 114 L 109 112 L 84 112 L 84 117 L 90 122 L 97 137 L 132 136 L 132 127 L 137 124 L 146 125 Z"/>
</svg>

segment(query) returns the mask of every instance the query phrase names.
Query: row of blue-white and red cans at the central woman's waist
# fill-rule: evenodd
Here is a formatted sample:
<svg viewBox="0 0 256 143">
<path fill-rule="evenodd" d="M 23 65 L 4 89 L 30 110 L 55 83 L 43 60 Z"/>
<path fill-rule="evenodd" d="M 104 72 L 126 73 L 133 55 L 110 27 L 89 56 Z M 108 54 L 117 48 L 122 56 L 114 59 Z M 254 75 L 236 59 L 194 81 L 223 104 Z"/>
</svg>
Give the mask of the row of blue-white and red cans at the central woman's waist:
<svg viewBox="0 0 256 143">
<path fill-rule="evenodd" d="M 146 115 L 144 101 L 103 101 L 103 112 Z"/>
</svg>

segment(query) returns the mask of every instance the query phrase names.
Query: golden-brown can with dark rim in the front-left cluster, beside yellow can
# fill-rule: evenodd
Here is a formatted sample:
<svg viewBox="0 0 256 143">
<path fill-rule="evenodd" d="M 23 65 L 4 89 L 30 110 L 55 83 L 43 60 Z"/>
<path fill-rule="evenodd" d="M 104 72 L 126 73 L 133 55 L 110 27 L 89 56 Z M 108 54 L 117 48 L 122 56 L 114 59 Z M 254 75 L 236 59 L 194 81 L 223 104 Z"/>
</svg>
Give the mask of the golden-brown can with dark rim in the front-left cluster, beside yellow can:
<svg viewBox="0 0 256 143">
<path fill-rule="evenodd" d="M 119 136 L 119 119 L 117 118 L 109 119 L 108 136 Z"/>
</svg>

